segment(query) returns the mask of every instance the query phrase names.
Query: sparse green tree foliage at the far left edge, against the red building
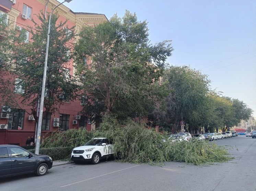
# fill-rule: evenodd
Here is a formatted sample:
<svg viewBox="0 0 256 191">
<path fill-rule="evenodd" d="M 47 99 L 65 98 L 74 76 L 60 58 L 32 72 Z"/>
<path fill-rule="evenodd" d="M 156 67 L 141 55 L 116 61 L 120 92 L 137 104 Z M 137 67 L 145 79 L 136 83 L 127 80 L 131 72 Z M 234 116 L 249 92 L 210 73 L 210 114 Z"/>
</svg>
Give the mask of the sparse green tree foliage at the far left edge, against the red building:
<svg viewBox="0 0 256 191">
<path fill-rule="evenodd" d="M 13 64 L 13 60 L 17 59 L 20 50 L 24 49 L 25 32 L 13 30 L 14 26 L 14 22 L 9 21 L 7 24 L 0 17 L 0 105 L 19 107 L 13 94 L 18 67 Z"/>
</svg>

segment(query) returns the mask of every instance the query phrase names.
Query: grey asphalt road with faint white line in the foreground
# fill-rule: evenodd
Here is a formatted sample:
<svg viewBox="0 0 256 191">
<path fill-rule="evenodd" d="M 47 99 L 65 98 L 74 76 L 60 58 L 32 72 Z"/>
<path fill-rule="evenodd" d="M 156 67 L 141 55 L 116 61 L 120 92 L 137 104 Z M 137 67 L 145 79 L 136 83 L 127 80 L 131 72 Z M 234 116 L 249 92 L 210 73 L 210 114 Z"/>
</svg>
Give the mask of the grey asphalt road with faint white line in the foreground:
<svg viewBox="0 0 256 191">
<path fill-rule="evenodd" d="M 256 139 L 238 136 L 217 140 L 217 144 L 233 146 L 230 153 L 235 159 L 210 166 L 71 163 L 53 167 L 42 177 L 0 179 L 0 191 L 256 191 Z"/>
</svg>

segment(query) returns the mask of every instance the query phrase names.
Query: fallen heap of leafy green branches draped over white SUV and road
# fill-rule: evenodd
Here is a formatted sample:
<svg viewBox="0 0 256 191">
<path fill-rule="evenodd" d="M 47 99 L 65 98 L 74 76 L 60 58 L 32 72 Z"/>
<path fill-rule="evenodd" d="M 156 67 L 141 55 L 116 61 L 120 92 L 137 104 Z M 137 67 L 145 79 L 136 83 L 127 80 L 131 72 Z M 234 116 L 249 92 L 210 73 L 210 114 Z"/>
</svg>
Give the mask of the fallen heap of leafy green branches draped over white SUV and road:
<svg viewBox="0 0 256 191">
<path fill-rule="evenodd" d="M 157 164 L 180 161 L 195 165 L 231 160 L 225 147 L 207 141 L 171 142 L 167 134 L 160 134 L 132 120 L 119 124 L 116 118 L 106 115 L 100 130 L 88 132 L 83 128 L 55 132 L 45 139 L 43 148 L 72 148 L 85 144 L 95 137 L 107 137 L 114 142 L 115 158 L 121 162 Z M 168 140 L 164 142 L 163 140 Z"/>
</svg>

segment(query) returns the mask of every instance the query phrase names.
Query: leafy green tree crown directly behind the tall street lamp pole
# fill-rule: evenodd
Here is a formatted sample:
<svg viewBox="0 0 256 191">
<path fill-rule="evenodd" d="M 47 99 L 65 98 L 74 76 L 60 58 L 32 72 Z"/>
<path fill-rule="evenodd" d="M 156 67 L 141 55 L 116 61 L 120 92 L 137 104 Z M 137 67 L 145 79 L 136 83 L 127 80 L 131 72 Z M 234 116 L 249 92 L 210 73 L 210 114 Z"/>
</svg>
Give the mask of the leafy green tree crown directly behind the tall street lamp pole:
<svg viewBox="0 0 256 191">
<path fill-rule="evenodd" d="M 40 22 L 35 22 L 36 30 L 30 30 L 31 42 L 20 50 L 19 58 L 15 60 L 19 66 L 18 77 L 22 79 L 20 86 L 24 90 L 22 103 L 30 106 L 34 118 L 37 120 L 36 109 L 38 97 L 41 96 L 42 79 L 45 66 L 46 42 L 48 33 L 48 20 L 41 12 L 37 15 Z M 49 17 L 48 17 L 49 18 Z M 72 74 L 71 56 L 68 51 L 72 49 L 70 39 L 73 38 L 73 28 L 67 34 L 66 22 L 58 22 L 58 16 L 51 17 L 51 30 L 49 37 L 49 50 L 47 60 L 47 75 L 45 84 L 44 108 L 45 112 L 58 111 L 63 100 L 72 101 L 79 94 L 77 79 Z M 20 62 L 22 60 L 22 62 Z M 41 79 L 41 80 L 40 80 Z M 28 101 L 29 100 L 29 101 Z"/>
</svg>

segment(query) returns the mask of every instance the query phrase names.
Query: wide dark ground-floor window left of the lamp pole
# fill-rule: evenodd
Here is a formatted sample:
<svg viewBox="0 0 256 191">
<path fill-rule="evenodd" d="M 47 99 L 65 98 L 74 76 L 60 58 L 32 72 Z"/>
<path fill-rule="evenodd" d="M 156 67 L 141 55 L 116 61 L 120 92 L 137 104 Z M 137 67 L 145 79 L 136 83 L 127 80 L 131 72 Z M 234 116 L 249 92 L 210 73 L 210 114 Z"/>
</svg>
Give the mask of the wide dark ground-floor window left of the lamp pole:
<svg viewBox="0 0 256 191">
<path fill-rule="evenodd" d="M 23 129 L 25 111 L 22 109 L 11 109 L 8 119 L 8 129 L 21 130 Z"/>
</svg>

